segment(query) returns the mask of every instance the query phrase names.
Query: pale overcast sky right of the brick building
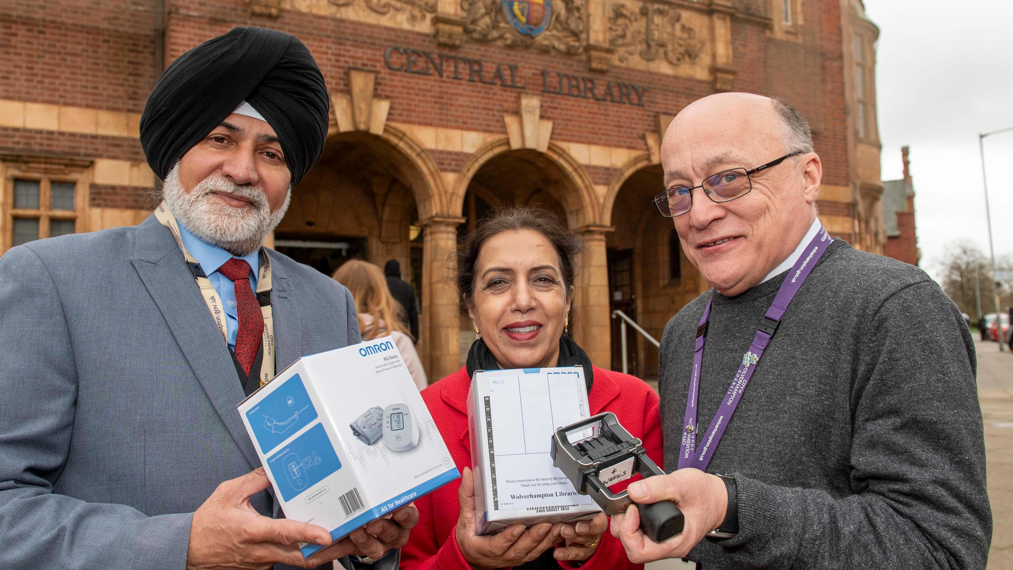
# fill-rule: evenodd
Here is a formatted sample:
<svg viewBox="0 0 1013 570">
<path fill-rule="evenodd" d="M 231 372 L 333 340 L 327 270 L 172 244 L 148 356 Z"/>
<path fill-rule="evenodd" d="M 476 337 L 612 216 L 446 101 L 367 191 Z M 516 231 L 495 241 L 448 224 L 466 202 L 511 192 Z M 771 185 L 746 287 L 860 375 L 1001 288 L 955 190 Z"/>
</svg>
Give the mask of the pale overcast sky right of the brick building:
<svg viewBox="0 0 1013 570">
<path fill-rule="evenodd" d="M 947 244 L 989 254 L 978 134 L 1013 127 L 1013 1 L 865 0 L 879 26 L 882 177 L 911 147 L 922 268 L 938 279 Z M 985 139 L 996 256 L 1013 255 L 1013 132 Z"/>
</svg>

